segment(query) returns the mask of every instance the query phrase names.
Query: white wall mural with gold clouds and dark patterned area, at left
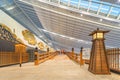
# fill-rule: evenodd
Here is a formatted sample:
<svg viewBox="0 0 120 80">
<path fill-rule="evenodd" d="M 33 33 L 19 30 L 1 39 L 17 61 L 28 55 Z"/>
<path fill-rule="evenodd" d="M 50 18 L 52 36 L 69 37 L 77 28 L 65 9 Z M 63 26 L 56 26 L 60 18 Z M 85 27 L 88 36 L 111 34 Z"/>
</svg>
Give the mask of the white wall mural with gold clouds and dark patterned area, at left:
<svg viewBox="0 0 120 80">
<path fill-rule="evenodd" d="M 0 24 L 0 39 L 12 42 L 17 41 L 33 48 L 40 46 L 38 47 L 39 49 L 47 51 L 48 46 L 44 41 L 32 34 L 2 10 L 0 10 L 0 15 L 2 15 L 0 16 L 0 23 L 2 23 Z M 39 42 L 42 42 L 42 44 Z"/>
</svg>

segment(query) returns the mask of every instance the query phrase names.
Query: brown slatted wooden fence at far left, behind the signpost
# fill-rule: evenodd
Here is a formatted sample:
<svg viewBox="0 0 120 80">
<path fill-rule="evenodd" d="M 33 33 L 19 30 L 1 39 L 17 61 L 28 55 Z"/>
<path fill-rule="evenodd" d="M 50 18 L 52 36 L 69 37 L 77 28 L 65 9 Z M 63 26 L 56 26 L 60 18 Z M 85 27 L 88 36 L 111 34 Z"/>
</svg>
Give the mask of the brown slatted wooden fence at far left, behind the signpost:
<svg viewBox="0 0 120 80">
<path fill-rule="evenodd" d="M 0 66 L 17 64 L 20 62 L 19 53 L 15 52 L 0 52 Z M 22 54 L 22 62 L 28 62 L 28 54 Z"/>
</svg>

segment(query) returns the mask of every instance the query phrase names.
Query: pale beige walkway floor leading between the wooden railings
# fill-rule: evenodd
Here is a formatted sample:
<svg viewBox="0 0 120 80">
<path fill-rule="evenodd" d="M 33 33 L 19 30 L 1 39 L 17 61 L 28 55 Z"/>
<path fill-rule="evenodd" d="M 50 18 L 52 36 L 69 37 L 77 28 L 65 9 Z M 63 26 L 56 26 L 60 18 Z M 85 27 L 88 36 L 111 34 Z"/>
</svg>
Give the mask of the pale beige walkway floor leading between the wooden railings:
<svg viewBox="0 0 120 80">
<path fill-rule="evenodd" d="M 39 66 L 34 63 L 0 68 L 0 80 L 120 80 L 120 75 L 94 75 L 88 65 L 80 65 L 69 60 L 66 55 L 58 55 Z"/>
</svg>

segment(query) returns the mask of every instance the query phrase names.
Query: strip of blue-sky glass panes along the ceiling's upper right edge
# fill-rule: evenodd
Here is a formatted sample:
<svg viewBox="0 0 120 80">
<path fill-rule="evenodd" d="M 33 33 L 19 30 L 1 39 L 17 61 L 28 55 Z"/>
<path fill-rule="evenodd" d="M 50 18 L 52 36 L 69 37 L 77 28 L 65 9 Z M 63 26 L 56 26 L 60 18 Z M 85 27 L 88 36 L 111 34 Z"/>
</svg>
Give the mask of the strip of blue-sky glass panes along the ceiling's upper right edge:
<svg viewBox="0 0 120 80">
<path fill-rule="evenodd" d="M 51 2 L 54 2 L 54 1 L 56 0 L 51 0 Z M 59 2 L 59 0 L 57 1 Z M 117 16 L 120 14 L 119 5 L 103 2 L 101 0 L 60 0 L 60 2 L 61 2 L 60 3 L 61 5 L 65 5 L 65 6 L 70 5 L 69 7 L 72 7 L 72 8 L 79 7 L 81 10 L 84 10 L 84 11 L 88 10 L 88 12 L 90 13 L 94 12 L 94 14 L 98 14 L 104 17 L 105 16 L 109 17 L 109 15 L 112 15 L 117 18 Z M 116 19 L 115 17 L 109 17 L 109 18 Z"/>
</svg>

